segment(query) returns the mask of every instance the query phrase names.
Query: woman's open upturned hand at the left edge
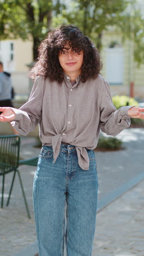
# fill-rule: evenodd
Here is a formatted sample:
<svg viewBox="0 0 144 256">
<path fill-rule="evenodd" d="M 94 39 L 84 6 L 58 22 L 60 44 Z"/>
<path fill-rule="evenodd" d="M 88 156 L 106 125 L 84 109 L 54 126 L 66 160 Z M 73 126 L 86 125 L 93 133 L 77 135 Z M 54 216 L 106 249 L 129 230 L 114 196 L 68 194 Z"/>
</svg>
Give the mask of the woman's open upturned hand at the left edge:
<svg viewBox="0 0 144 256">
<path fill-rule="evenodd" d="M 0 107 L 0 121 L 1 122 L 9 122 L 15 120 L 15 112 L 13 109 L 9 107 Z"/>
</svg>

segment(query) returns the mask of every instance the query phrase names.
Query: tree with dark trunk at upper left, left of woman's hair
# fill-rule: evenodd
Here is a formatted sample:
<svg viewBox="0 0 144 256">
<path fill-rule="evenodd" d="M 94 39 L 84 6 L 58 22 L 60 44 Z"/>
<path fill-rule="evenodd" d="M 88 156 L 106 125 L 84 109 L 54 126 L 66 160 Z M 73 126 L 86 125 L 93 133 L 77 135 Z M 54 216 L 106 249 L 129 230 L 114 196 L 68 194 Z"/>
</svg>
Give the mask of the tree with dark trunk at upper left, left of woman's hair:
<svg viewBox="0 0 144 256">
<path fill-rule="evenodd" d="M 52 0 L 3 0 L 0 8 L 1 39 L 31 36 L 36 60 L 38 45 L 51 28 Z"/>
</svg>

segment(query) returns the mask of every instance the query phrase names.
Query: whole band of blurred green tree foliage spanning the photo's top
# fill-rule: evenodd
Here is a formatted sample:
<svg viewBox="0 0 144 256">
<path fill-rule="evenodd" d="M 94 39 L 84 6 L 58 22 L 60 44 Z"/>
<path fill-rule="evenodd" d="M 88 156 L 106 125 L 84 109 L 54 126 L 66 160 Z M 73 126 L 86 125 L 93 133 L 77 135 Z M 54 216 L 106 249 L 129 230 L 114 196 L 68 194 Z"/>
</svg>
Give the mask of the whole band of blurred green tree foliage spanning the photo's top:
<svg viewBox="0 0 144 256">
<path fill-rule="evenodd" d="M 72 24 L 101 49 L 103 31 L 116 27 L 134 42 L 137 63 L 144 63 L 144 19 L 136 0 L 1 0 L 0 39 L 33 39 L 33 59 L 51 27 Z"/>
</svg>

